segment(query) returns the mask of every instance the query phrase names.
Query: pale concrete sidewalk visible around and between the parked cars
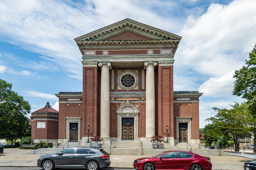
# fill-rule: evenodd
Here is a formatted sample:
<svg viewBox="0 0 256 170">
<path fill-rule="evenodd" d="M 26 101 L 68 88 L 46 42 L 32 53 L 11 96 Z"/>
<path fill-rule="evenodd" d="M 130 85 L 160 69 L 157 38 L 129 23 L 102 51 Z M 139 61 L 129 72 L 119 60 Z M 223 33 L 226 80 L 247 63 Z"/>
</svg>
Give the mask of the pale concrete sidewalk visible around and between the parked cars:
<svg viewBox="0 0 256 170">
<path fill-rule="evenodd" d="M 6 148 L 4 156 L 0 156 L 0 167 L 37 167 L 37 159 L 40 155 L 22 154 L 30 149 Z M 152 155 L 154 156 L 154 155 Z M 143 155 L 111 155 L 111 167 L 133 168 L 133 161 L 137 158 L 148 157 Z M 213 170 L 241 170 L 244 162 L 252 160 L 241 156 L 211 156 Z"/>
</svg>

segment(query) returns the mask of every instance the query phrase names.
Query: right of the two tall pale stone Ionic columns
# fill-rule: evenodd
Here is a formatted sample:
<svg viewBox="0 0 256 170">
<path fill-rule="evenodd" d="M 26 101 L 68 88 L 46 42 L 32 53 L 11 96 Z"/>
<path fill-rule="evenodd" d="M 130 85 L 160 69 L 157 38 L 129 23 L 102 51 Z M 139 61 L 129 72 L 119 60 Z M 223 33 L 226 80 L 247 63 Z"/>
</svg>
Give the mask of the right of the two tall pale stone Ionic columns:
<svg viewBox="0 0 256 170">
<path fill-rule="evenodd" d="M 145 61 L 146 68 L 146 137 L 148 143 L 151 137 L 155 135 L 155 77 L 154 69 L 156 61 Z"/>
</svg>

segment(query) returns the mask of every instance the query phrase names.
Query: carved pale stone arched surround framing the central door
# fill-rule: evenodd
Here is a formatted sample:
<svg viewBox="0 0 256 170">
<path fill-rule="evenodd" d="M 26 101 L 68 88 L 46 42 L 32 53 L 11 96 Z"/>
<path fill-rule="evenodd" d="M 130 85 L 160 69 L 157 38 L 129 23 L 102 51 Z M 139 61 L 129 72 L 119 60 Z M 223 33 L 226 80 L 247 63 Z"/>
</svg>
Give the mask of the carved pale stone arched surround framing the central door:
<svg viewBox="0 0 256 170">
<path fill-rule="evenodd" d="M 122 103 L 118 106 L 117 110 L 117 117 L 118 117 L 118 141 L 122 140 L 122 118 L 134 118 L 134 141 L 138 141 L 138 114 L 139 109 L 138 107 L 127 101 L 125 103 Z"/>
</svg>

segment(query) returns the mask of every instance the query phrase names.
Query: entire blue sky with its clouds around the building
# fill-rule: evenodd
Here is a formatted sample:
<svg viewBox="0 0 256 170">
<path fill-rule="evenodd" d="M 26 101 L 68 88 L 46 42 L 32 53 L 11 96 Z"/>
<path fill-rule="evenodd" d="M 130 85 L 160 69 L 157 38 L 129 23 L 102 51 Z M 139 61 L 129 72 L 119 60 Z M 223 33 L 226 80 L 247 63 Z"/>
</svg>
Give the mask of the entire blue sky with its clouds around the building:
<svg viewBox="0 0 256 170">
<path fill-rule="evenodd" d="M 234 70 L 256 42 L 255 0 L 3 0 L 0 79 L 32 106 L 58 110 L 60 91 L 82 91 L 82 55 L 74 38 L 129 18 L 182 36 L 174 90 L 199 90 L 200 128 L 232 95 Z M 30 115 L 28 115 L 30 116 Z"/>
</svg>

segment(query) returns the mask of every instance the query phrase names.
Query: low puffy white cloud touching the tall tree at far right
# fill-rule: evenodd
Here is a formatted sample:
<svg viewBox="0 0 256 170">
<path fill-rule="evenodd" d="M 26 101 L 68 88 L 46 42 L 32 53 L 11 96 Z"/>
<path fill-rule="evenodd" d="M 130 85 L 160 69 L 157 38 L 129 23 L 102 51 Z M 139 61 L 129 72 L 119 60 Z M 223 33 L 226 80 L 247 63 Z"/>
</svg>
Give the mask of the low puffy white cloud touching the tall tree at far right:
<svg viewBox="0 0 256 170">
<path fill-rule="evenodd" d="M 198 90 L 203 93 L 204 96 L 208 97 L 231 95 L 235 81 L 235 78 L 233 78 L 234 74 L 235 70 L 230 71 L 221 77 L 211 77 L 200 85 Z"/>
</svg>

